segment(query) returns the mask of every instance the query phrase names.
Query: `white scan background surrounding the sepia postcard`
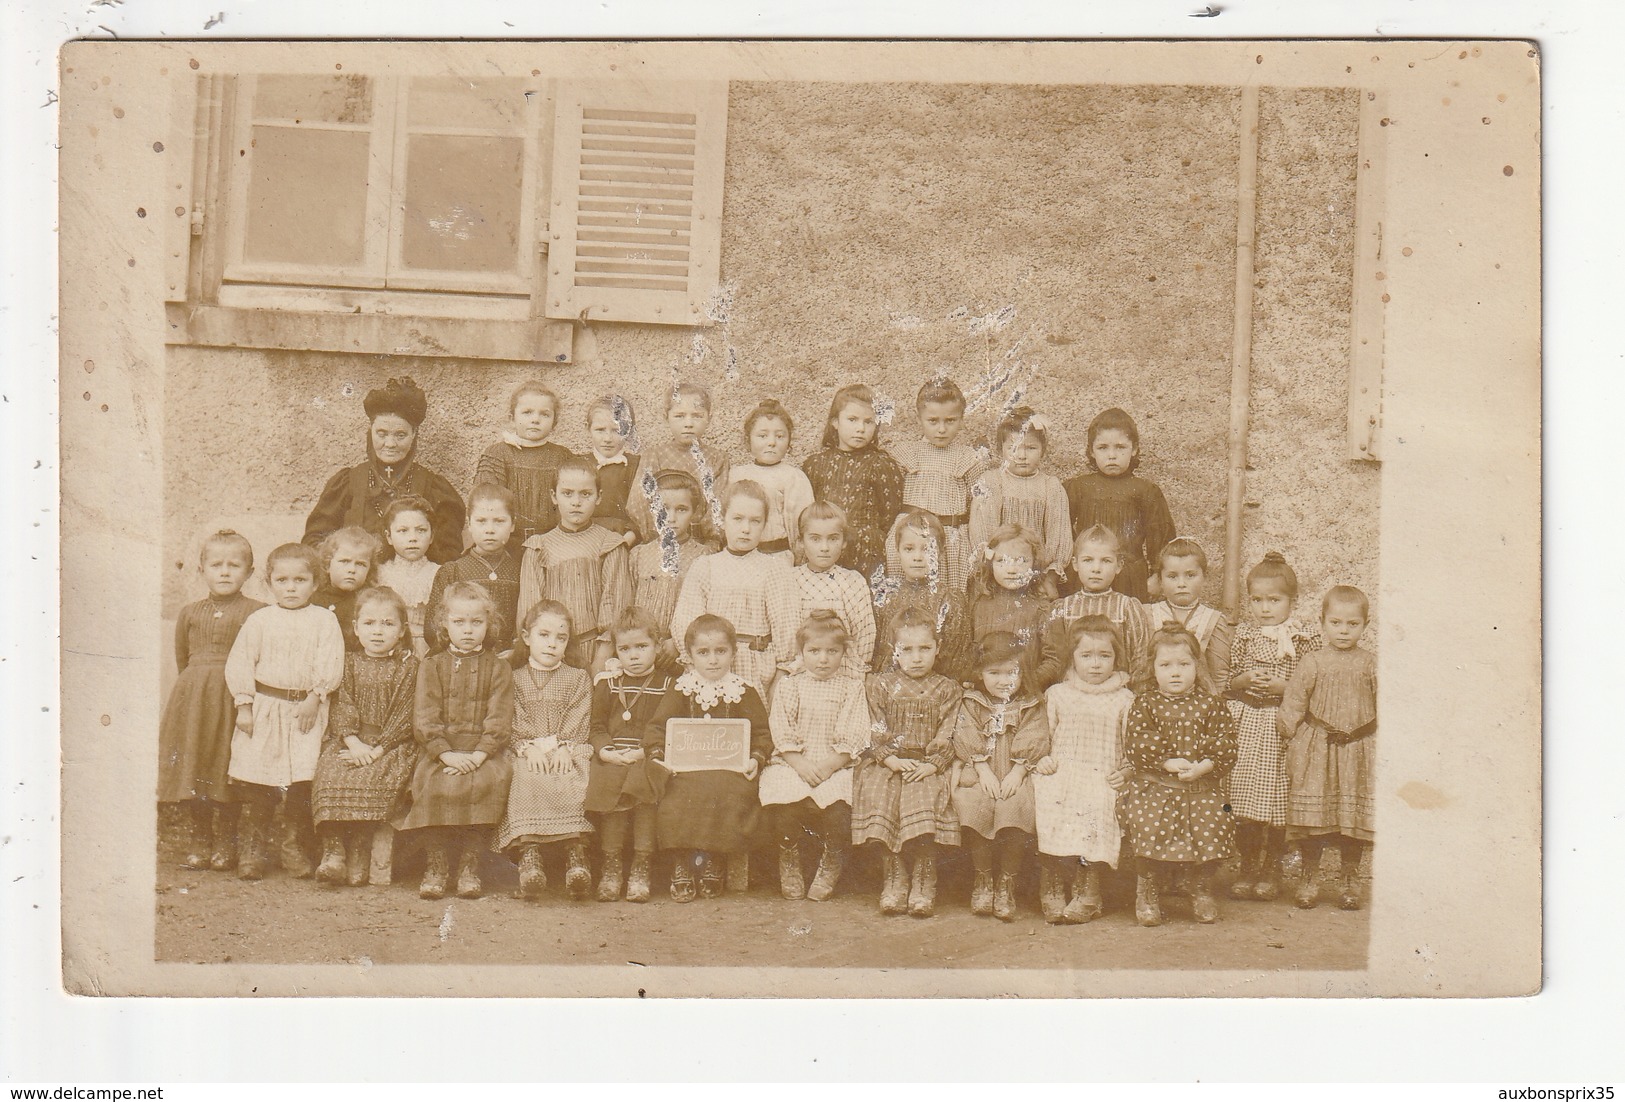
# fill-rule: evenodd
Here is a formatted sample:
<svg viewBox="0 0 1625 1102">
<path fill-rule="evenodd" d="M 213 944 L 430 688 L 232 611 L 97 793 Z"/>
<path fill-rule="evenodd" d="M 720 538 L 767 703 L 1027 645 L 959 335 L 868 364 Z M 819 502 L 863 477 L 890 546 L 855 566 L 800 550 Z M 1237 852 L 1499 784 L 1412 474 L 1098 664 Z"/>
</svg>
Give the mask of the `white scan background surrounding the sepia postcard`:
<svg viewBox="0 0 1625 1102">
<path fill-rule="evenodd" d="M 800 5 L 712 3 L 704 15 L 678 5 L 585 5 L 574 13 L 526 18 L 497 5 L 463 3 L 457 26 L 427 5 L 284 3 L 228 8 L 210 36 L 380 36 L 528 37 L 598 36 L 660 37 L 699 34 L 864 36 L 939 34 L 952 37 L 1032 36 L 1370 36 L 1399 37 L 1536 37 L 1545 80 L 1545 362 L 1547 375 L 1547 507 L 1549 575 L 1586 577 L 1597 556 L 1589 548 L 1618 546 L 1618 517 L 1596 515 L 1614 463 L 1604 449 L 1617 436 L 1610 411 L 1620 406 L 1614 333 L 1618 314 L 1618 255 L 1602 252 L 1614 241 L 1607 215 L 1610 161 L 1618 161 L 1617 135 L 1625 132 L 1612 93 L 1612 52 L 1625 21 L 1617 8 L 1519 5 L 1516 15 L 1445 3 L 1344 5 L 1331 11 L 1290 3 L 1220 3 L 1222 16 L 1191 20 L 1201 5 L 1157 5 L 1155 11 L 1069 11 L 1072 5 L 912 3 L 890 13 L 840 13 L 838 24 L 809 23 Z M 205 8 L 211 8 L 205 11 Z M 1614 1069 L 1620 954 L 1604 936 L 1617 925 L 1620 876 L 1618 800 L 1610 783 L 1620 774 L 1618 709 L 1606 709 L 1606 688 L 1618 679 L 1617 632 L 1609 632 L 1614 601 L 1554 585 L 1547 603 L 1550 676 L 1547 720 L 1547 988 L 1532 1000 L 1256 1003 L 1245 1008 L 1246 1034 L 1214 1027 L 1237 1008 L 1212 1001 L 1110 1003 L 826 1003 L 796 1004 L 803 1043 L 788 1037 L 788 1006 L 762 1014 L 748 1003 L 570 1003 L 567 1045 L 540 1061 L 523 1048 L 489 1043 L 479 1065 L 424 1066 L 410 1053 L 424 1035 L 426 1019 L 455 1014 L 471 1035 L 500 1039 L 522 1021 L 544 1021 L 557 1006 L 510 1001 L 455 1008 L 413 1001 L 223 1003 L 171 1000 L 70 1000 L 58 991 L 57 785 L 55 785 L 55 242 L 49 232 L 55 210 L 55 112 L 46 89 L 55 86 L 55 50 L 72 33 L 96 34 L 104 23 L 124 37 L 203 34 L 203 21 L 219 0 L 125 7 L 34 5 L 5 13 L 10 93 L 5 148 L 13 154 L 3 176 L 5 208 L 21 234 L 6 249 L 5 271 L 5 421 L 0 449 L 11 488 L 8 517 L 15 531 L 0 543 L 6 567 L 5 624 L 0 639 L 0 699 L 8 702 L 0 740 L 0 801 L 10 842 L 0 847 L 5 884 L 0 925 L 0 1068 L 13 1082 L 99 1079 L 346 1079 L 387 1078 L 569 1078 L 635 1074 L 648 1078 L 712 1074 L 722 1078 L 931 1078 L 939 1066 L 895 1060 L 879 1045 L 843 1039 L 886 1035 L 899 1016 L 910 1032 L 944 1039 L 977 1032 L 1009 1039 L 998 1052 L 962 1055 L 960 1079 L 1009 1078 L 1167 1078 L 1167 1079 L 1508 1079 L 1575 1081 Z M 899 11 L 904 8 L 904 11 Z M 21 55 L 18 59 L 18 55 Z M 28 114 L 32 112 L 32 114 Z M 18 213 L 23 213 L 21 216 Z M 50 319 L 50 320 L 47 320 Z M 28 431 L 24 431 L 28 426 Z M 1612 432 L 1610 432 L 1612 431 Z M 1589 440 L 1589 444 L 1583 442 Z M 36 460 L 39 466 L 34 466 Z M 1589 514 L 1589 515 L 1588 515 Z M 32 527 L 39 522 L 39 527 Z M 1581 523 L 1588 527 L 1581 527 Z M 1516 580 L 1514 580 L 1516 582 Z M 1583 626 L 1580 601 L 1584 601 Z M 1617 613 L 1615 613 L 1617 616 Z M 1609 662 L 1609 660 L 1614 662 Z M 1607 665 L 1604 665 L 1607 663 Z M 1592 710 L 1594 709 L 1594 710 Z M 1487 891 L 1487 905 L 1493 892 Z M 1604 1001 L 1607 1000 L 1607 1001 Z M 353 1021 L 354 1019 L 354 1021 Z M 432 1021 L 431 1019 L 431 1021 Z M 658 1027 L 656 1027 L 658 1021 Z M 354 1047 L 330 1042 L 336 1029 L 359 1030 L 382 1045 L 359 1066 Z M 717 1030 L 743 1040 L 731 1065 L 697 1061 L 692 1045 Z M 260 1043 L 202 1047 L 198 1037 L 226 1034 Z M 614 1055 L 619 1039 L 639 1037 L 642 1052 L 629 1068 Z M 275 1043 L 266 1043 L 270 1039 Z M 1079 1063 L 1069 1043 L 1030 1043 L 1042 1037 L 1089 1037 L 1102 1061 Z M 1178 1043 L 1170 1043 L 1176 1037 Z M 1427 1037 L 1430 1043 L 1415 1043 Z M 1020 1039 L 1020 1040 L 1017 1040 Z M 366 1043 L 366 1042 L 362 1042 Z M 200 1052 L 200 1048 L 206 1048 Z M 956 1055 L 964 1048 L 952 1047 Z M 288 1052 L 309 1053 L 291 1068 Z M 1019 1060 L 1009 1053 L 1020 1053 Z M 1352 1065 L 1346 1056 L 1368 1053 Z M 395 1056 L 392 1060 L 392 1056 Z M 811 1063 L 817 1056 L 817 1063 Z M 512 1061 L 512 1063 L 505 1063 Z"/>
</svg>

